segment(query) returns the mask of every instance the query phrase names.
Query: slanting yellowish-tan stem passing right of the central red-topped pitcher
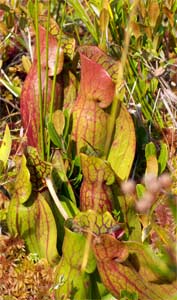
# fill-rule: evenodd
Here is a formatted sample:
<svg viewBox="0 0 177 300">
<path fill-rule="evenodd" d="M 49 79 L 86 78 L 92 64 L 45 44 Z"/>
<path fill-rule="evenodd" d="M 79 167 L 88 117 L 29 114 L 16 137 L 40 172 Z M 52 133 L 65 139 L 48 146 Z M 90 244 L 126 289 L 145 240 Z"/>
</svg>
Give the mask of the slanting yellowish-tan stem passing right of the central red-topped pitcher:
<svg viewBox="0 0 177 300">
<path fill-rule="evenodd" d="M 133 7 L 130 13 L 130 18 L 129 22 L 127 25 L 127 30 L 125 32 L 125 41 L 124 41 L 124 48 L 122 50 L 122 56 L 121 56 L 121 62 L 120 62 L 120 68 L 119 68 L 119 74 L 117 76 L 117 82 L 116 82 L 116 87 L 115 87 L 115 94 L 113 98 L 113 103 L 111 107 L 111 114 L 110 114 L 110 119 L 108 122 L 108 128 L 107 128 L 107 139 L 105 143 L 105 157 L 108 157 L 110 146 L 112 143 L 112 138 L 114 134 L 114 129 L 115 129 L 115 124 L 116 124 L 116 119 L 120 111 L 120 106 L 121 106 L 121 100 L 120 100 L 120 92 L 121 92 L 121 86 L 123 83 L 124 79 L 124 69 L 126 65 L 126 60 L 127 60 L 127 55 L 128 55 L 128 49 L 129 49 L 129 43 L 130 43 L 130 37 L 131 37 L 131 24 L 132 24 L 132 19 L 135 15 L 136 8 L 138 5 L 139 0 L 135 0 L 133 3 Z"/>
</svg>

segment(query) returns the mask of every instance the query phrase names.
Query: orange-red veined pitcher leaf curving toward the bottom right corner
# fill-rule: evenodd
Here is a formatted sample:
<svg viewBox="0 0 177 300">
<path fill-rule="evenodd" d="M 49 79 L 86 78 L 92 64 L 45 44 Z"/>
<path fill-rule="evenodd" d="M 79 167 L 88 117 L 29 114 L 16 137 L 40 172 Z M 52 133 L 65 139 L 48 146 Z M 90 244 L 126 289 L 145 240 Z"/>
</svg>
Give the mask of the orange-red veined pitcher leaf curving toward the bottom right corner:
<svg viewBox="0 0 177 300">
<path fill-rule="evenodd" d="M 137 292 L 141 300 L 166 300 L 175 293 L 172 285 L 158 285 L 148 282 L 129 261 L 126 244 L 113 236 L 102 234 L 92 242 L 97 267 L 103 284 L 115 296 L 120 297 L 121 290 Z"/>
</svg>

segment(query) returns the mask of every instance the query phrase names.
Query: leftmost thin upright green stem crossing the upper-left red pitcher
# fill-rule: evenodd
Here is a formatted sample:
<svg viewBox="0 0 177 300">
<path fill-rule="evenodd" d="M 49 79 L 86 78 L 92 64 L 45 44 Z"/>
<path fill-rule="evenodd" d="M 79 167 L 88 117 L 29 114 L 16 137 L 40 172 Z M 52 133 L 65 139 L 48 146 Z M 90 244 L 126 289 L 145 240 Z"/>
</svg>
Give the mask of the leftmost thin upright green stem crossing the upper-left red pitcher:
<svg viewBox="0 0 177 300">
<path fill-rule="evenodd" d="M 39 24 L 38 24 L 38 0 L 35 0 L 35 27 L 36 27 L 36 51 L 37 51 L 37 73 L 38 73 L 38 90 L 39 90 L 39 109 L 40 109 L 40 148 L 41 158 L 44 159 L 44 122 L 43 122 L 43 99 L 42 99 L 42 80 L 41 80 L 41 54 L 39 41 Z"/>
</svg>

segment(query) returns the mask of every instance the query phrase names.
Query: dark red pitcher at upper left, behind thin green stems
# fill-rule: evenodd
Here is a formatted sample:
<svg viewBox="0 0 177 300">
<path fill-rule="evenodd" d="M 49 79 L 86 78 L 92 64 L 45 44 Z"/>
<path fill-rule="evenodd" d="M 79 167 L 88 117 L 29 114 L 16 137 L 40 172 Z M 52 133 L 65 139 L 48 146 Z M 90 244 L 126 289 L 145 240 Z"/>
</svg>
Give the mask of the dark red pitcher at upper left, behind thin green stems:
<svg viewBox="0 0 177 300">
<path fill-rule="evenodd" d="M 46 31 L 43 27 L 39 27 L 39 39 L 41 47 L 41 81 L 42 81 L 42 96 L 45 95 L 45 78 L 46 78 L 46 45 L 45 45 Z M 49 75 L 54 74 L 54 64 L 56 59 L 56 53 L 58 49 L 57 40 L 49 34 Z M 58 65 L 57 72 L 62 69 L 63 57 L 61 54 L 61 60 Z M 47 91 L 47 111 L 51 100 L 52 80 L 48 78 L 48 91 Z M 57 83 L 55 91 L 55 108 L 58 107 L 59 96 L 61 87 Z M 39 89 L 38 89 L 38 72 L 37 72 L 37 58 L 34 56 L 34 61 L 31 69 L 25 79 L 21 97 L 20 97 L 20 111 L 22 117 L 22 123 L 26 130 L 27 143 L 30 146 L 39 148 Z M 39 149 L 40 150 L 40 149 Z"/>
</svg>

